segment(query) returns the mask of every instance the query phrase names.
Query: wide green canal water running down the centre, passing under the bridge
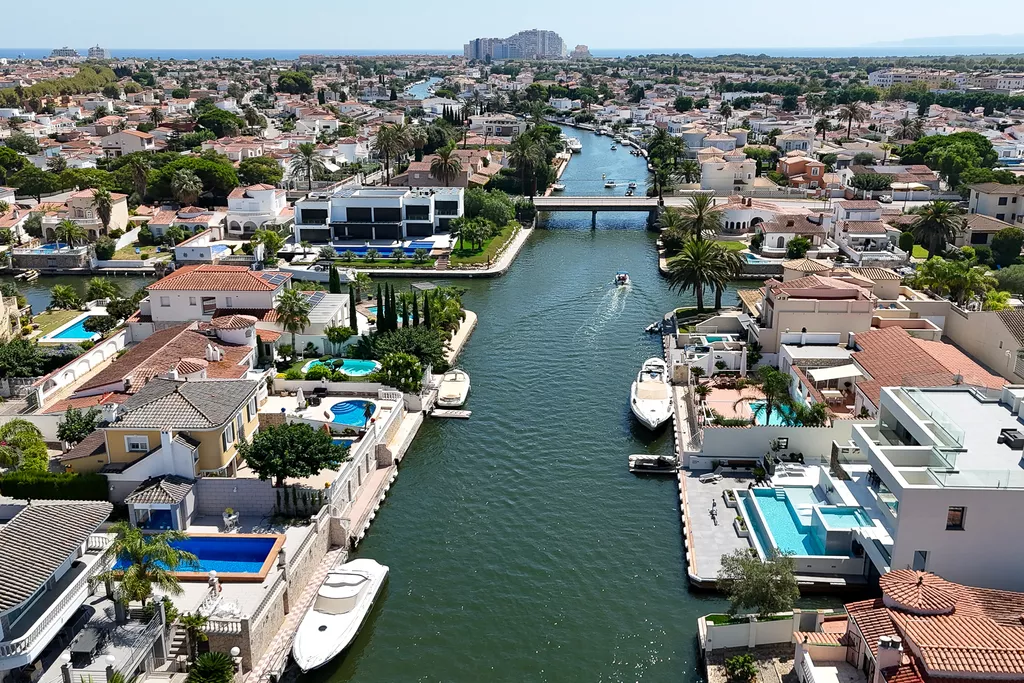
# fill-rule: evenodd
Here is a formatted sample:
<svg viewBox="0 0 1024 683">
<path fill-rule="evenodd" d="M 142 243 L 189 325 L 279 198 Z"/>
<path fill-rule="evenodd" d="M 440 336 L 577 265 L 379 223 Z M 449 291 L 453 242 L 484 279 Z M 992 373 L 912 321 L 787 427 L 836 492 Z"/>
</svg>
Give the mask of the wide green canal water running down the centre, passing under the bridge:
<svg viewBox="0 0 1024 683">
<path fill-rule="evenodd" d="M 566 193 L 603 193 L 601 173 L 643 187 L 642 159 L 567 134 L 584 152 Z M 473 417 L 423 425 L 356 553 L 390 581 L 349 651 L 303 683 L 700 680 L 695 620 L 726 602 L 687 589 L 674 480 L 626 467 L 672 451 L 629 390 L 662 354 L 644 328 L 692 302 L 658 275 L 644 219 L 557 214 L 505 276 L 458 282 L 479 314 L 460 359 Z"/>
</svg>

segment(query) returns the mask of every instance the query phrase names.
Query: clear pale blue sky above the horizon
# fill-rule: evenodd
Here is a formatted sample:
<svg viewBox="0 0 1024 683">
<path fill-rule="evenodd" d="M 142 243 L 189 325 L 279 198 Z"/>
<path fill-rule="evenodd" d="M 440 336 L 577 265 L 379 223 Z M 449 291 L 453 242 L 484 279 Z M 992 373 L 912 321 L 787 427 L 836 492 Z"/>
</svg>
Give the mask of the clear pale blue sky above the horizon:
<svg viewBox="0 0 1024 683">
<path fill-rule="evenodd" d="M 175 0 L 93 5 L 6 2 L 4 47 L 241 49 L 459 48 L 472 37 L 558 32 L 569 47 L 821 47 L 1019 33 L 1022 0 Z M 831 10 L 831 11 L 830 11 Z"/>
</svg>

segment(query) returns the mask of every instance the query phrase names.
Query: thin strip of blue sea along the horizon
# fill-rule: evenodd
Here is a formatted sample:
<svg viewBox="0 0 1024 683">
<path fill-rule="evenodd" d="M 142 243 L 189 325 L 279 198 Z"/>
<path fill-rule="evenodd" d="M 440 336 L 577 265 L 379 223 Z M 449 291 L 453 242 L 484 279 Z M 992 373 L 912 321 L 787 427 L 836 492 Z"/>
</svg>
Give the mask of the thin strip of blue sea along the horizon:
<svg viewBox="0 0 1024 683">
<path fill-rule="evenodd" d="M 0 58 L 38 59 L 49 56 L 52 48 L 8 48 L 0 47 Z M 85 55 L 88 48 L 76 48 Z M 404 54 L 422 54 L 450 56 L 461 54 L 462 50 L 444 49 L 165 49 L 165 48 L 111 48 L 114 58 L 150 58 L 150 59 L 295 59 L 302 54 L 326 54 L 338 56 L 395 56 Z M 1024 45 L 1019 47 L 1005 46 L 910 46 L 910 47 L 720 47 L 720 48 L 686 48 L 686 47 L 645 47 L 645 48 L 608 48 L 592 49 L 595 57 L 628 57 L 642 54 L 690 54 L 694 57 L 712 57 L 723 54 L 746 54 L 752 56 L 767 55 L 771 57 L 911 57 L 911 56 L 953 56 L 953 55 L 1006 55 L 1022 54 Z"/>
</svg>

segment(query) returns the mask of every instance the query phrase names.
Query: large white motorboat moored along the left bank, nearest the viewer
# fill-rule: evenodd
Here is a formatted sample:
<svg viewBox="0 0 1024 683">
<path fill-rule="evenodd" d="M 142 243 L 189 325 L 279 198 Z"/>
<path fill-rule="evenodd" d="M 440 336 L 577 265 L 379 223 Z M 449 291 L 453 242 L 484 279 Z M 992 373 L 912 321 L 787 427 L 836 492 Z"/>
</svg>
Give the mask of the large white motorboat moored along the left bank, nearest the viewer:
<svg viewBox="0 0 1024 683">
<path fill-rule="evenodd" d="M 387 566 L 366 558 L 328 571 L 295 633 L 292 656 L 299 669 L 307 672 L 324 666 L 355 640 L 387 572 Z"/>
</svg>

